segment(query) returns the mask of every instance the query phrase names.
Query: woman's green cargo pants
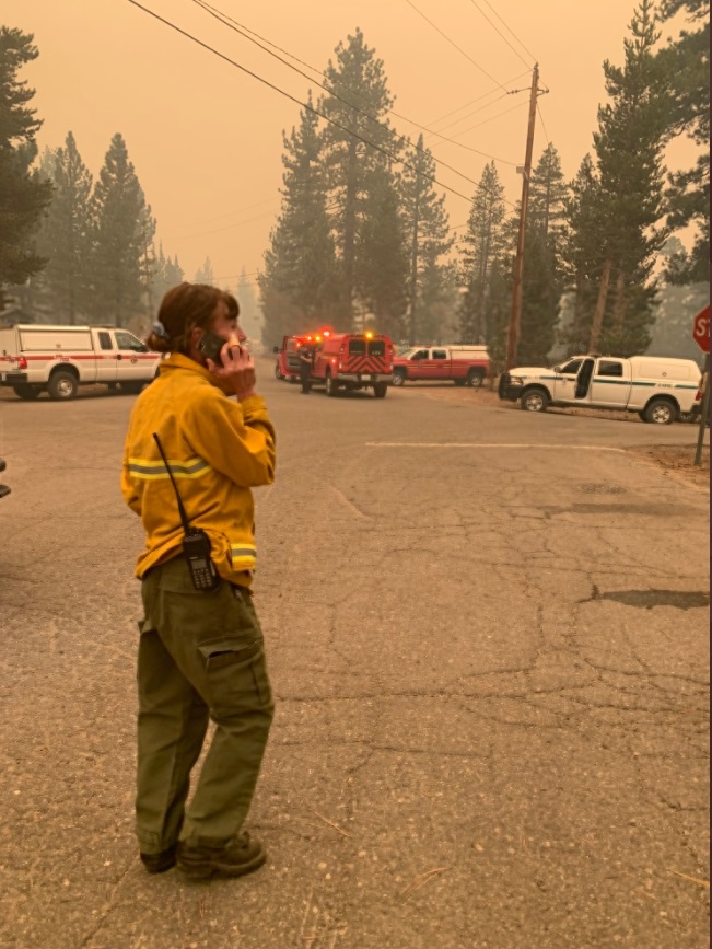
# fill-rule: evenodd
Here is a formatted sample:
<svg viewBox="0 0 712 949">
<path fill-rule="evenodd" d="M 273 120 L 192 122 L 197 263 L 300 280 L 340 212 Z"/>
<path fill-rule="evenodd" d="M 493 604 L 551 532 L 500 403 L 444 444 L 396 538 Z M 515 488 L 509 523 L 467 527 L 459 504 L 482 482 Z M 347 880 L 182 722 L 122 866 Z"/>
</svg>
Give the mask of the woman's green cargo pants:
<svg viewBox="0 0 712 949">
<path fill-rule="evenodd" d="M 157 854 L 178 836 L 218 846 L 240 831 L 272 721 L 262 633 L 243 587 L 192 586 L 183 557 L 144 577 L 139 624 L 137 836 Z M 215 732 L 195 796 L 190 772 L 208 720 Z"/>
</svg>

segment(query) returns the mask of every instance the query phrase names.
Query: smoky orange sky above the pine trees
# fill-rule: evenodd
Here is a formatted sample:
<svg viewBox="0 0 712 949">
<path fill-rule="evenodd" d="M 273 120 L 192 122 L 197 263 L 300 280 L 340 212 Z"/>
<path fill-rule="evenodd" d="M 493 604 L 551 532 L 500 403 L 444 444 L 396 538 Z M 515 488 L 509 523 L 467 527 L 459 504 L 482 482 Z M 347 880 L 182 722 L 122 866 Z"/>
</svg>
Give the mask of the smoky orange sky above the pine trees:
<svg viewBox="0 0 712 949">
<path fill-rule="evenodd" d="M 141 2 L 300 102 L 310 88 L 315 97 L 320 92 L 192 0 Z M 603 61 L 622 61 L 635 7 L 632 0 L 210 2 L 318 70 L 361 27 L 384 61 L 394 109 L 455 138 L 459 146 L 436 136 L 427 143 L 475 182 L 489 159 L 462 146 L 495 157 L 511 202 L 521 190 L 516 165 L 524 161 L 534 57 L 549 89 L 539 100 L 535 162 L 550 140 L 570 178 L 592 148 L 605 100 Z M 71 129 L 96 176 L 120 131 L 157 219 L 157 240 L 166 254 L 178 255 L 186 278 L 210 256 L 219 283 L 234 287 L 243 266 L 254 280 L 279 209 L 282 129 L 297 121 L 299 105 L 128 0 L 3 0 L 2 9 L 3 22 L 33 33 L 39 48 L 21 78 L 36 89 L 40 148 L 61 144 Z M 505 94 L 513 89 L 524 91 Z M 392 121 L 417 138 L 415 126 Z M 668 149 L 668 166 L 687 165 L 695 153 L 679 139 Z M 448 194 L 446 201 L 451 224 L 464 223 L 474 184 L 442 166 L 437 177 L 467 197 Z"/>
</svg>

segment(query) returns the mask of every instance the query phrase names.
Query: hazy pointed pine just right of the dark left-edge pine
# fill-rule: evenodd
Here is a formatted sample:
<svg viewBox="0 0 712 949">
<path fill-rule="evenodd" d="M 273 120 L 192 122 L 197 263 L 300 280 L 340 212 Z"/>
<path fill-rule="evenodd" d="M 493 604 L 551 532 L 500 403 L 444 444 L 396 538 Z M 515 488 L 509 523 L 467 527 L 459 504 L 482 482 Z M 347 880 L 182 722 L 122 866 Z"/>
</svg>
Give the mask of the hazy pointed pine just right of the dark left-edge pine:
<svg viewBox="0 0 712 949">
<path fill-rule="evenodd" d="M 48 258 L 42 274 L 43 297 L 51 301 L 57 323 L 77 323 L 91 311 L 92 175 L 82 161 L 72 132 L 65 147 L 43 155 L 55 194 L 37 238 Z"/>
</svg>

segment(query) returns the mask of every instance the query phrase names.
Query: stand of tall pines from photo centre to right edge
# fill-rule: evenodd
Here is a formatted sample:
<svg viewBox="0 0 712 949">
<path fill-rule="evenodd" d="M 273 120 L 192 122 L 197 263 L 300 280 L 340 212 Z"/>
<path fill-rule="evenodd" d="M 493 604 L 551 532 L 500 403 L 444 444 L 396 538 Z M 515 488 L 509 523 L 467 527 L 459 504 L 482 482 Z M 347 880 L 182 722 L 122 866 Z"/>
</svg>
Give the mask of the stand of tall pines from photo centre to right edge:
<svg viewBox="0 0 712 949">
<path fill-rule="evenodd" d="M 681 11 L 691 28 L 661 46 Z M 520 362 L 540 363 L 555 343 L 644 351 L 656 264 L 667 259 L 666 283 L 709 279 L 709 153 L 689 171 L 667 174 L 663 163 L 674 136 L 709 141 L 708 67 L 708 0 L 641 0 L 622 65 L 604 62 L 607 102 L 573 180 L 553 143 L 542 150 L 530 177 Z M 360 31 L 337 46 L 324 80 L 283 137 L 282 207 L 258 278 L 265 342 L 370 321 L 398 340 L 487 343 L 501 359 L 520 208 L 507 213 L 497 163 L 482 170 L 455 240 L 436 162 L 422 135 L 413 143 L 392 127 L 384 63 Z M 669 240 L 685 228 L 696 234 L 689 253 Z M 677 250 L 666 257 L 668 244 Z M 562 328 L 567 293 L 573 315 Z"/>
</svg>

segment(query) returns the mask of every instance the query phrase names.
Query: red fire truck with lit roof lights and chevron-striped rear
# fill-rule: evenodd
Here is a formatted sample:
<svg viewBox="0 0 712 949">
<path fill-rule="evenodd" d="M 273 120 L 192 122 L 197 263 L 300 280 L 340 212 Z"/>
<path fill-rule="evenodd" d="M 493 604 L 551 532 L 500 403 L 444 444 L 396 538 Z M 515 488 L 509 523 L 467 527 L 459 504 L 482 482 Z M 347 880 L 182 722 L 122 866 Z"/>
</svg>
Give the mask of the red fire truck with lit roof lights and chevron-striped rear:
<svg viewBox="0 0 712 949">
<path fill-rule="evenodd" d="M 389 336 L 380 333 L 328 333 L 316 344 L 313 385 L 324 385 L 326 394 L 339 390 L 373 389 L 385 398 L 393 382 L 395 347 Z"/>
</svg>

